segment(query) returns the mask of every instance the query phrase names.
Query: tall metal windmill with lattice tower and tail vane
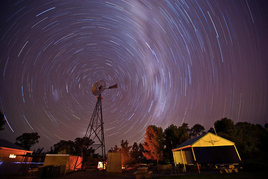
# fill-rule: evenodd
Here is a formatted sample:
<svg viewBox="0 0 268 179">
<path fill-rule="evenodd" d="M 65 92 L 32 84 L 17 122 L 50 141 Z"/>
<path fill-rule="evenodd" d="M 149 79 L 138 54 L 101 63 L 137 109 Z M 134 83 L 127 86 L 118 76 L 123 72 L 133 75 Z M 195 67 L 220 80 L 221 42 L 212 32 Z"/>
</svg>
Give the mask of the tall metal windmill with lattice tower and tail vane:
<svg viewBox="0 0 268 179">
<path fill-rule="evenodd" d="M 101 100 L 102 96 L 101 93 L 106 89 L 113 89 L 117 88 L 117 84 L 110 86 L 108 88 L 106 87 L 106 82 L 104 80 L 97 81 L 93 87 L 92 87 L 92 93 L 94 96 L 97 97 L 97 103 L 95 105 L 95 109 L 93 111 L 90 123 L 87 128 L 87 132 L 85 134 L 85 138 L 83 141 L 83 145 L 81 146 L 81 157 L 82 161 L 77 164 L 77 160 L 75 163 L 75 169 L 84 169 L 84 162 L 86 160 L 86 156 L 83 157 L 83 150 L 84 154 L 87 154 L 88 149 L 94 150 L 94 152 L 101 148 L 102 150 L 102 167 L 103 169 L 106 167 L 106 155 L 105 155 L 105 144 L 104 144 L 104 134 L 103 134 L 103 122 L 102 122 L 102 106 L 101 106 Z M 79 167 L 80 166 L 80 167 Z"/>
</svg>

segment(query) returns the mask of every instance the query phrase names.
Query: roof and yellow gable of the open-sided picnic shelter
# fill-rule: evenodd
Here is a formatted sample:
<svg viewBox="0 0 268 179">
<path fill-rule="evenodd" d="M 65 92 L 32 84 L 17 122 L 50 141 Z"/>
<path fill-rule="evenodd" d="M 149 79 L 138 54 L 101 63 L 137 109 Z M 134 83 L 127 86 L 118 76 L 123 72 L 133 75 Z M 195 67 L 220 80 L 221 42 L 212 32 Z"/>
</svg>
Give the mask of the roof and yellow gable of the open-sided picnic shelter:
<svg viewBox="0 0 268 179">
<path fill-rule="evenodd" d="M 172 151 L 181 150 L 188 147 L 210 147 L 224 145 L 235 145 L 235 143 L 209 132 L 207 134 L 188 139 L 187 141 L 178 145 Z"/>
</svg>

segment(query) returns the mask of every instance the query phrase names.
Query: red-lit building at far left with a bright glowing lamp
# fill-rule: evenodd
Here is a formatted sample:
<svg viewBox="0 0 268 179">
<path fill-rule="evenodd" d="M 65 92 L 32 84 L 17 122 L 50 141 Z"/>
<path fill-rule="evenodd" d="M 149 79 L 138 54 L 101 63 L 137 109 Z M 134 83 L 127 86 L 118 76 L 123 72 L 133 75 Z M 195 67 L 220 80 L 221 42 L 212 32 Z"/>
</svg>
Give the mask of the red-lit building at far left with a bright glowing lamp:
<svg viewBox="0 0 268 179">
<path fill-rule="evenodd" d="M 25 165 L 31 162 L 31 158 L 24 155 L 31 154 L 32 151 L 0 139 L 0 176 L 21 175 Z"/>
</svg>

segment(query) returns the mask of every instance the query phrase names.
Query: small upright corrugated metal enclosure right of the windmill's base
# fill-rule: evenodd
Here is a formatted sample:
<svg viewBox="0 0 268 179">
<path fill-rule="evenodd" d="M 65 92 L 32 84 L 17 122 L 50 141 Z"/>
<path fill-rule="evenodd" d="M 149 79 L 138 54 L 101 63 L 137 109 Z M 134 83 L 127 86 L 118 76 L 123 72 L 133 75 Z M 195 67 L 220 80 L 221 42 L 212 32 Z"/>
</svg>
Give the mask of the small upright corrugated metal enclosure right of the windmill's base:
<svg viewBox="0 0 268 179">
<path fill-rule="evenodd" d="M 106 171 L 122 173 L 122 155 L 108 152 Z"/>
</svg>

